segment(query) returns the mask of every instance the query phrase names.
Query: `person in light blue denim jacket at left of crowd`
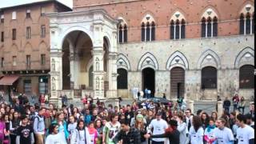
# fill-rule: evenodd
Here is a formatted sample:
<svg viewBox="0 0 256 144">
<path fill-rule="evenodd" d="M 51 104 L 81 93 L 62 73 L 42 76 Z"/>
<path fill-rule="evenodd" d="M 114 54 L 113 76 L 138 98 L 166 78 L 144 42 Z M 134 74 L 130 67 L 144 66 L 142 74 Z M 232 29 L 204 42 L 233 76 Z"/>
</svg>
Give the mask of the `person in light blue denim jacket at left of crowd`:
<svg viewBox="0 0 256 144">
<path fill-rule="evenodd" d="M 45 122 L 43 115 L 46 112 L 46 108 L 41 107 L 38 111 L 38 114 L 34 118 L 34 134 L 36 138 L 36 144 L 43 144 L 44 143 L 44 134 L 45 134 Z"/>
</svg>

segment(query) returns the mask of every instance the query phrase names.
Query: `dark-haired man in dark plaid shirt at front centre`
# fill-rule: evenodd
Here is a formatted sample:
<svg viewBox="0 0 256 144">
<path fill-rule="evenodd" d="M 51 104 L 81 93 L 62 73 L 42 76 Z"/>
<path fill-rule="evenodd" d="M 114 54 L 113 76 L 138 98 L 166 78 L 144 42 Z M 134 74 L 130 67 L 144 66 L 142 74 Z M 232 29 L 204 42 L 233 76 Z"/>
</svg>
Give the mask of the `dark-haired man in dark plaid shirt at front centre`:
<svg viewBox="0 0 256 144">
<path fill-rule="evenodd" d="M 122 144 L 141 144 L 140 131 L 134 127 L 130 127 L 130 122 L 127 119 L 120 121 L 121 130 L 114 136 L 113 141 Z"/>
</svg>

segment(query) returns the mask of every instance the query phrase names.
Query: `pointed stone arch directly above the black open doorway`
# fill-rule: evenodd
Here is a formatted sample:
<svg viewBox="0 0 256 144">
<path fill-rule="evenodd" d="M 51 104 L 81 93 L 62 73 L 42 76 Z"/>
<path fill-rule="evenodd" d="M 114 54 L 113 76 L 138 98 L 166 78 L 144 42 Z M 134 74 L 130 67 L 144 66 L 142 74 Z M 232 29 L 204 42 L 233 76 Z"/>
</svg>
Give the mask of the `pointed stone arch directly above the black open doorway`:
<svg viewBox="0 0 256 144">
<path fill-rule="evenodd" d="M 158 61 L 154 57 L 154 55 L 151 54 L 150 52 L 143 54 L 142 58 L 140 58 L 138 62 L 138 70 L 143 70 L 146 67 L 150 67 L 154 70 L 158 70 Z"/>
</svg>

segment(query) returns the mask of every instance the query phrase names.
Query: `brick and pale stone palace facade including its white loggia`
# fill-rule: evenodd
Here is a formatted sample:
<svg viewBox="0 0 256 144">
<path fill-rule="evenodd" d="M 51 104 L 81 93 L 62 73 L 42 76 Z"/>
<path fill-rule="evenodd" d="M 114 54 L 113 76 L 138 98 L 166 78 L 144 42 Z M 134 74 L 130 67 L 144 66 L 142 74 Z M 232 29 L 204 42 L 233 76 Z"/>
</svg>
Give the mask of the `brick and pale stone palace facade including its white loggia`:
<svg viewBox="0 0 256 144">
<path fill-rule="evenodd" d="M 75 0 L 49 17 L 54 98 L 254 96 L 254 1 Z"/>
</svg>

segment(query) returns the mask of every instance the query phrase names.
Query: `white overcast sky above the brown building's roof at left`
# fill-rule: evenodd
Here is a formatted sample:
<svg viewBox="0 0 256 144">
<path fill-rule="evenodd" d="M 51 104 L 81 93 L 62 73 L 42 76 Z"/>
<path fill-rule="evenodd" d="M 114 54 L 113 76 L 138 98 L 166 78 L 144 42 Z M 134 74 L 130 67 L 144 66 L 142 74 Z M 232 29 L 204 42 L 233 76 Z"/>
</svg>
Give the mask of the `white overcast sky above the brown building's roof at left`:
<svg viewBox="0 0 256 144">
<path fill-rule="evenodd" d="M 30 3 L 30 2 L 40 2 L 40 1 L 45 1 L 45 0 L 0 0 L 0 3 L 1 3 L 0 8 L 17 6 L 25 3 Z M 62 2 L 63 4 L 65 4 L 66 6 L 69 6 L 70 8 L 73 7 L 72 0 L 58 0 L 58 2 Z"/>
</svg>

